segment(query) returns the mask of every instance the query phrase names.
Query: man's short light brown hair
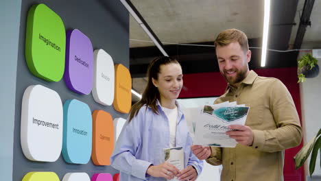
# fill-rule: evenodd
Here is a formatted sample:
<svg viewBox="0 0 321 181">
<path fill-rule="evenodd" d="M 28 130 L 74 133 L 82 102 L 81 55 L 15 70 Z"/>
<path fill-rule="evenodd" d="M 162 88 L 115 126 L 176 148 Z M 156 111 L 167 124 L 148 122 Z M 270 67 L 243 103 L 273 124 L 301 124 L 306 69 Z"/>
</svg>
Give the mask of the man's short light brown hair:
<svg viewBox="0 0 321 181">
<path fill-rule="evenodd" d="M 215 49 L 217 46 L 224 47 L 233 42 L 238 42 L 243 51 L 248 51 L 248 37 L 239 29 L 226 29 L 219 33 L 214 41 Z"/>
</svg>

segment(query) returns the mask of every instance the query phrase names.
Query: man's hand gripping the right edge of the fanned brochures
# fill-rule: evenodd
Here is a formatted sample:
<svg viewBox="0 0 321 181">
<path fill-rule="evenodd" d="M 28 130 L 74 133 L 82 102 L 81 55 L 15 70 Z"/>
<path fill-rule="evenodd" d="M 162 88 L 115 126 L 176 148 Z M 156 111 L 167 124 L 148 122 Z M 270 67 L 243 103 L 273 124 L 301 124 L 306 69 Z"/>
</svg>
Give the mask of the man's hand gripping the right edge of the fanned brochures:
<svg viewBox="0 0 321 181">
<path fill-rule="evenodd" d="M 234 138 L 237 143 L 246 146 L 253 144 L 254 134 L 250 127 L 246 125 L 229 125 L 228 129 L 233 131 L 227 131 L 226 134 L 230 136 L 230 138 Z"/>
</svg>

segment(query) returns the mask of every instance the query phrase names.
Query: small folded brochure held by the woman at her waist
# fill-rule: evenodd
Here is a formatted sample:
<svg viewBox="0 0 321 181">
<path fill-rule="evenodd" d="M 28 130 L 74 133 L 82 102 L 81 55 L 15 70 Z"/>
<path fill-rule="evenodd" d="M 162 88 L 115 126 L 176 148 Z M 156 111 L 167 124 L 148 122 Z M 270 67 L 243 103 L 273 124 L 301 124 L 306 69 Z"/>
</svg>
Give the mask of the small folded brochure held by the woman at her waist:
<svg viewBox="0 0 321 181">
<path fill-rule="evenodd" d="M 165 162 L 174 165 L 177 169 L 184 169 L 184 150 L 182 147 L 164 148 Z M 170 181 L 179 181 L 178 178 L 173 178 Z"/>
</svg>

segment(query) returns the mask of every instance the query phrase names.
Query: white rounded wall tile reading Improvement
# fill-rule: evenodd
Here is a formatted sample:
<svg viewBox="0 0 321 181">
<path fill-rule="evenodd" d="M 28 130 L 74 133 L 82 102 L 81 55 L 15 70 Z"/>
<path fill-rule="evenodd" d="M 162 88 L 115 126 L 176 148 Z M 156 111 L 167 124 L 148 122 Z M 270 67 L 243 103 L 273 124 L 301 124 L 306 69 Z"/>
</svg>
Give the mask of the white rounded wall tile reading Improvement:
<svg viewBox="0 0 321 181">
<path fill-rule="evenodd" d="M 56 91 L 28 86 L 21 107 L 21 147 L 29 160 L 56 161 L 62 149 L 62 101 Z"/>
</svg>

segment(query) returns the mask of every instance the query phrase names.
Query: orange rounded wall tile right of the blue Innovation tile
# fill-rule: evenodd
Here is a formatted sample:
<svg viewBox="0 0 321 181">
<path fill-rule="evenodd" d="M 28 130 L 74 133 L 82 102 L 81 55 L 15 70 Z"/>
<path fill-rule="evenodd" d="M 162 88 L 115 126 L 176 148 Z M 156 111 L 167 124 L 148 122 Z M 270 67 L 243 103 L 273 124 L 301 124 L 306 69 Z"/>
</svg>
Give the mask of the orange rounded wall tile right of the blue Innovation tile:
<svg viewBox="0 0 321 181">
<path fill-rule="evenodd" d="M 91 159 L 95 165 L 110 165 L 114 149 L 114 125 L 112 116 L 104 110 L 93 112 L 93 152 Z"/>
</svg>

